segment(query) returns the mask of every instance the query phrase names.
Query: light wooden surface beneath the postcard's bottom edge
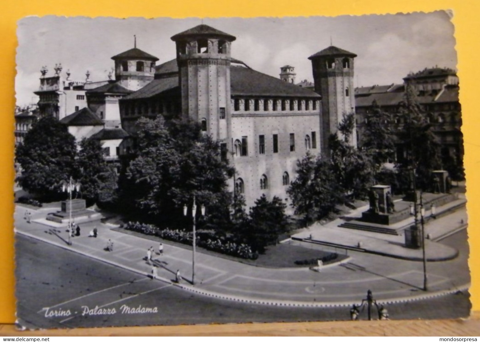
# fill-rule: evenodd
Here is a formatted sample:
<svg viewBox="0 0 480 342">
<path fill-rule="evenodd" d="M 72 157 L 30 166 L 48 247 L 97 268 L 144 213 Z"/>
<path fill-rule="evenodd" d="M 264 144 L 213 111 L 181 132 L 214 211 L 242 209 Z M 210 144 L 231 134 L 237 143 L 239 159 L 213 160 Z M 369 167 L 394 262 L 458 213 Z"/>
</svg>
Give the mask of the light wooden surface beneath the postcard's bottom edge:
<svg viewBox="0 0 480 342">
<path fill-rule="evenodd" d="M 480 312 L 469 319 L 314 323 L 250 323 L 16 331 L 0 325 L 0 336 L 480 336 Z"/>
</svg>

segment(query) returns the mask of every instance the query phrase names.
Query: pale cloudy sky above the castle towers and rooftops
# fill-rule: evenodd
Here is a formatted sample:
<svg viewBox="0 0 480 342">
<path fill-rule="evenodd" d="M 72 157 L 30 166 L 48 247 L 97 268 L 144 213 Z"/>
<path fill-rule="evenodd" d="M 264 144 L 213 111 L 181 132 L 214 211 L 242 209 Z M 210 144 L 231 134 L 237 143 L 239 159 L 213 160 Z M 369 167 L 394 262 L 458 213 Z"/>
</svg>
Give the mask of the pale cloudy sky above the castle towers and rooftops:
<svg viewBox="0 0 480 342">
<path fill-rule="evenodd" d="M 36 102 L 40 68 L 52 76 L 55 63 L 72 80 L 106 80 L 110 57 L 137 47 L 163 63 L 175 58 L 174 34 L 201 24 L 198 18 L 28 17 L 18 23 L 17 104 Z M 297 81 L 312 80 L 309 56 L 330 46 L 358 55 L 355 85 L 401 83 L 411 71 L 456 68 L 454 26 L 448 13 L 364 15 L 359 17 L 206 18 L 203 23 L 237 37 L 232 57 L 278 77 L 280 67 L 294 66 Z"/>
</svg>

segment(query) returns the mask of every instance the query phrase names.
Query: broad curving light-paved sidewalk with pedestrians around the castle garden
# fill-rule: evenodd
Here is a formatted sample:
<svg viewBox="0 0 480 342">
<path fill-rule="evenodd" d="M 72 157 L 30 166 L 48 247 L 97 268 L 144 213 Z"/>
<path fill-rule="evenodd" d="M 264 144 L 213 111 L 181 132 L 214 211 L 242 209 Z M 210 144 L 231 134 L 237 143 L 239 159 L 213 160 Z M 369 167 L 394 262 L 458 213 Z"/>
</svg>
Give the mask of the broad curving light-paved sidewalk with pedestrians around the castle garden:
<svg viewBox="0 0 480 342">
<path fill-rule="evenodd" d="M 429 273 L 429 291 L 422 292 L 419 291 L 420 263 L 395 259 L 391 259 L 392 264 L 377 259 L 364 261 L 365 254 L 352 256 L 345 267 L 334 266 L 321 272 L 312 272 L 308 268 L 256 267 L 198 252 L 195 285 L 192 286 L 192 251 L 169 245 L 166 241 L 164 255 L 155 253 L 152 262 L 147 262 L 147 249 L 153 247 L 156 251 L 156 242 L 112 230 L 106 225 L 98 225 L 98 237 L 90 238 L 87 234 L 93 227 L 86 224 L 81 225 L 81 236 L 72 238 L 72 245 L 69 246 L 66 244 L 68 237 L 65 228 L 35 222 L 45 217 L 44 209 L 30 210 L 34 219 L 30 224 L 23 219 L 24 211 L 25 208 L 20 205 L 15 208 L 17 234 L 145 276 L 151 275 L 152 265 L 155 264 L 158 266 L 158 279 L 168 283 L 174 283 L 175 273 L 180 270 L 185 280 L 175 285 L 214 298 L 280 306 L 351 306 L 358 304 L 369 288 L 374 291 L 377 301 L 384 303 L 419 300 L 468 288 L 468 274 L 451 279 L 446 270 L 439 273 L 432 269 Z M 113 241 L 113 251 L 104 250 L 108 239 Z M 359 263 L 364 263 L 364 266 Z M 352 270 L 354 268 L 358 270 Z"/>
</svg>

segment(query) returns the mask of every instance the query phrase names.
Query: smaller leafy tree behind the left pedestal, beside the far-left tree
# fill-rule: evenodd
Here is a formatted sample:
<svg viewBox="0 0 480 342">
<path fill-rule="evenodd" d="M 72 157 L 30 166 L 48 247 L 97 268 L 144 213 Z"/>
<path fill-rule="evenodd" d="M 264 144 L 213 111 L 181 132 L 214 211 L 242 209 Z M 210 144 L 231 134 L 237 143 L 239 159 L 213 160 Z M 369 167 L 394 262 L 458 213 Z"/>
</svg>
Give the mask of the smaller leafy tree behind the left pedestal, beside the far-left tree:
<svg viewBox="0 0 480 342">
<path fill-rule="evenodd" d="M 117 174 L 103 158 L 103 150 L 96 139 L 83 139 L 76 160 L 81 194 L 90 203 L 113 202 L 117 188 Z"/>
</svg>

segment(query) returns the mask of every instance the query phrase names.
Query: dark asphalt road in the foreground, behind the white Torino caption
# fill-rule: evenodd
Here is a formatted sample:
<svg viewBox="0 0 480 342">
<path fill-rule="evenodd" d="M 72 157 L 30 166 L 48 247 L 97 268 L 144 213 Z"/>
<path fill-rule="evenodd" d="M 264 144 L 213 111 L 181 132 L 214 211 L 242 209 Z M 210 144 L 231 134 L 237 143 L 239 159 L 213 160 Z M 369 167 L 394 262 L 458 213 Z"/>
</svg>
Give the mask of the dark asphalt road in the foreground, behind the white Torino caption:
<svg viewBox="0 0 480 342">
<path fill-rule="evenodd" d="M 449 238 L 462 244 L 464 233 Z M 29 327 L 70 328 L 113 325 L 178 325 L 349 319 L 348 308 L 286 308 L 237 303 L 193 295 L 157 280 L 17 235 L 18 316 Z M 360 271 L 349 271 L 352 273 Z M 365 294 L 359 294 L 365 296 Z M 374 292 L 375 295 L 375 292 Z M 359 299 L 361 299 L 360 297 Z M 157 308 L 157 313 L 121 314 L 121 306 Z M 115 308 L 116 314 L 84 315 L 82 306 Z M 45 317 L 46 310 L 67 316 Z M 392 319 L 465 317 L 468 294 L 393 304 Z M 48 314 L 47 314 L 48 316 Z M 366 319 L 366 310 L 361 313 Z"/>
</svg>

